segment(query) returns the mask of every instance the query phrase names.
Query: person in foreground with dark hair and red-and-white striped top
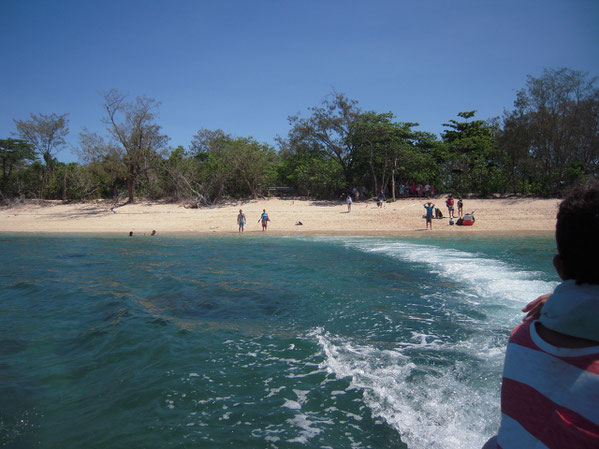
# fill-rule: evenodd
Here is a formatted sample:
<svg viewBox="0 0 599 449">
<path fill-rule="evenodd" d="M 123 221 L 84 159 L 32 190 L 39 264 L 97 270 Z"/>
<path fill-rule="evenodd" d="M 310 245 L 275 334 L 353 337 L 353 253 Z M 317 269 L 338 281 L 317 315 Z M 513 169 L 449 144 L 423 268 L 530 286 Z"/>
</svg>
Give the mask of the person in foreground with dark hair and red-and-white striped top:
<svg viewBox="0 0 599 449">
<path fill-rule="evenodd" d="M 599 448 L 599 182 L 564 198 L 555 239 L 563 282 L 512 331 L 501 425 L 483 449 Z"/>
</svg>

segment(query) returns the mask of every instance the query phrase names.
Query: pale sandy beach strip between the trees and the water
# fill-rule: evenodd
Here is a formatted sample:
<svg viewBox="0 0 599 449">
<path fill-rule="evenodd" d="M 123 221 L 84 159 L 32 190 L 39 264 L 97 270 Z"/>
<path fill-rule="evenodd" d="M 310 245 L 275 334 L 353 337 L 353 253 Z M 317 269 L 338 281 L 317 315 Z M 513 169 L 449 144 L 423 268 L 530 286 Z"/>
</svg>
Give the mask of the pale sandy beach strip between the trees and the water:
<svg viewBox="0 0 599 449">
<path fill-rule="evenodd" d="M 267 198 L 229 202 L 192 209 L 183 203 L 138 200 L 111 210 L 113 203 L 92 201 L 28 202 L 0 209 L 0 232 L 233 234 L 239 209 L 248 223 L 245 232 L 262 233 L 258 223 L 262 209 L 271 221 L 268 233 L 276 234 L 410 234 L 424 233 L 424 199 L 401 199 L 377 207 L 374 201 L 352 205 L 342 202 L 293 198 Z M 445 218 L 433 220 L 433 233 L 553 232 L 557 199 L 468 199 L 464 212 L 475 211 L 474 226 L 449 226 L 445 198 L 432 202 Z M 302 225 L 296 225 L 296 222 Z"/>
</svg>

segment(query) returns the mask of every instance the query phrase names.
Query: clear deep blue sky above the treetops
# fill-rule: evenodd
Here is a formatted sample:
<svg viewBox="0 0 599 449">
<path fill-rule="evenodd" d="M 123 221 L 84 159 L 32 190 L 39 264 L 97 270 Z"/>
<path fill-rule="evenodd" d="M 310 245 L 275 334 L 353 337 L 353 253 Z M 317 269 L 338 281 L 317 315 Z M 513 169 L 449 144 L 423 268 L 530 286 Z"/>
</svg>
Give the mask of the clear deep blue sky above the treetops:
<svg viewBox="0 0 599 449">
<path fill-rule="evenodd" d="M 0 0 L 0 138 L 66 112 L 76 146 L 111 88 L 160 101 L 173 148 L 200 128 L 275 145 L 333 89 L 440 133 L 559 67 L 599 75 L 598 0 Z"/>
</svg>

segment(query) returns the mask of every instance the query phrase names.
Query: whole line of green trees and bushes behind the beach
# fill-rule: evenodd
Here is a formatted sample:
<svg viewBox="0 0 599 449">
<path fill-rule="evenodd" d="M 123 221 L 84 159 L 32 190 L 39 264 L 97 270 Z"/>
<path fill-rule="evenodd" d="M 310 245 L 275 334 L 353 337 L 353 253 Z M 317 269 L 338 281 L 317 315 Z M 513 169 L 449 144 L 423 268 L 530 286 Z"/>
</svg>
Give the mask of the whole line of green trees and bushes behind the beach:
<svg viewBox="0 0 599 449">
<path fill-rule="evenodd" d="M 130 102 L 112 90 L 103 98 L 107 133 L 80 132 L 80 163 L 55 158 L 66 145 L 67 114 L 15 120 L 18 138 L 0 139 L 0 200 L 143 196 L 209 205 L 260 197 L 269 186 L 329 199 L 352 186 L 395 197 L 400 184 L 413 183 L 459 195 L 559 196 L 599 174 L 596 82 L 546 69 L 528 77 L 502 117 L 460 112 L 443 124 L 440 138 L 333 92 L 306 115 L 289 117 L 288 136 L 277 138 L 276 149 L 220 129 L 200 129 L 188 148 L 169 148 L 156 119 L 159 103 Z"/>
</svg>

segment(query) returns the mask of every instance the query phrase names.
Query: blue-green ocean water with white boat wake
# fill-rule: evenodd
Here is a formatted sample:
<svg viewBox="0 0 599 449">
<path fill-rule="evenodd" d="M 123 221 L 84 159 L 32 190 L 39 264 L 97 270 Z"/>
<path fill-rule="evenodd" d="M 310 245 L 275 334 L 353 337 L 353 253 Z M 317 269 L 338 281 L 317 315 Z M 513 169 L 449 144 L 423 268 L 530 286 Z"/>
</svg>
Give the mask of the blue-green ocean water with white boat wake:
<svg viewBox="0 0 599 449">
<path fill-rule="evenodd" d="M 0 235 L 0 447 L 478 448 L 554 251 Z"/>
</svg>

